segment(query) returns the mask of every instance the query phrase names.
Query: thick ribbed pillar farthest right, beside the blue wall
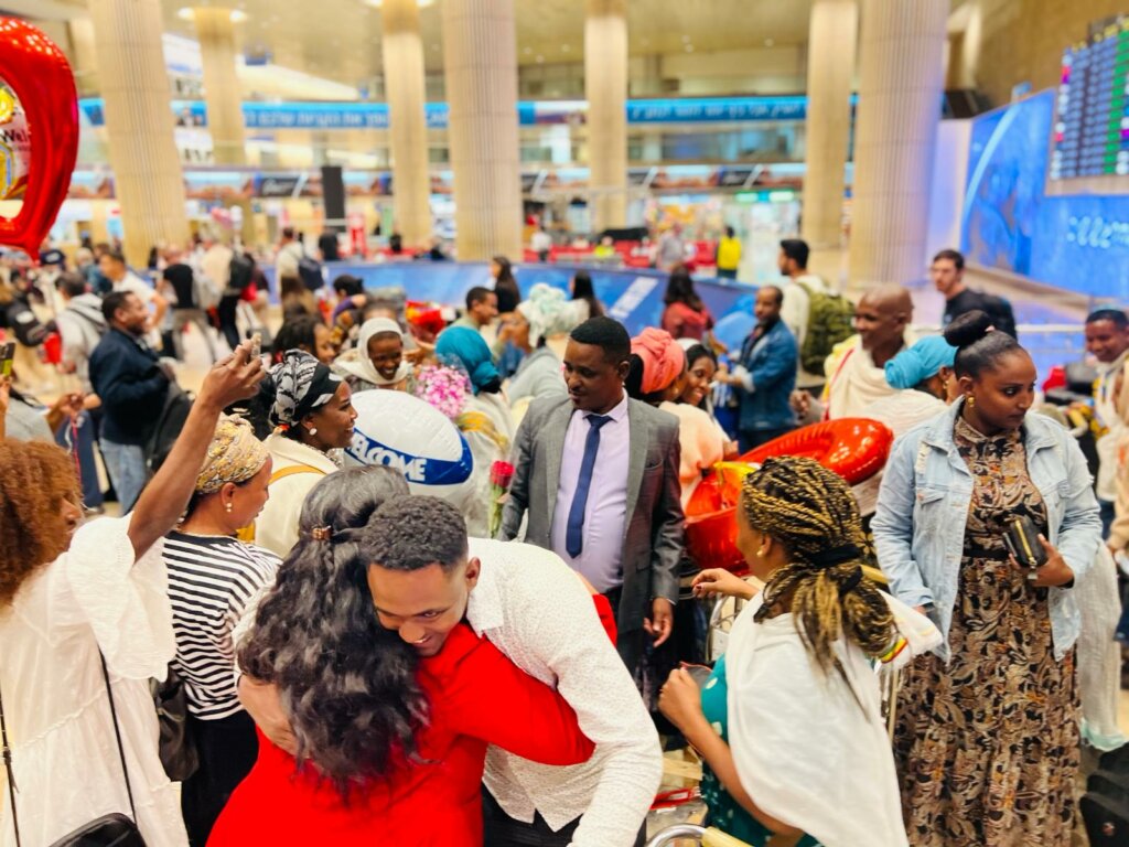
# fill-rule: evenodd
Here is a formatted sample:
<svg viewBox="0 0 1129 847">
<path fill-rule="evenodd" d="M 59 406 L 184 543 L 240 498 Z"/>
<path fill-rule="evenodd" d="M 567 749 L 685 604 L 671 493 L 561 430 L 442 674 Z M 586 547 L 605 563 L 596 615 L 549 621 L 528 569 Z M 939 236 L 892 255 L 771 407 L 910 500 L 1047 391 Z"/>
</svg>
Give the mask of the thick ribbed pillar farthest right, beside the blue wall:
<svg viewBox="0 0 1129 847">
<path fill-rule="evenodd" d="M 850 279 L 925 276 L 948 0 L 864 0 Z"/>
</svg>

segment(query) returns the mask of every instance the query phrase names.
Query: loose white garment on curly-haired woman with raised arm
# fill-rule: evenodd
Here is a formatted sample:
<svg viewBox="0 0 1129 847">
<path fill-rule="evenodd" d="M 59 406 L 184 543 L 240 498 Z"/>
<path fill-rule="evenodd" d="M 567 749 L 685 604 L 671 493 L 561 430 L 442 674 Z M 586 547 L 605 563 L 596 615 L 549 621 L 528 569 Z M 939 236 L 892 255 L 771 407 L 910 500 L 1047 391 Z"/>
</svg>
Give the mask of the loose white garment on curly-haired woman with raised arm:
<svg viewBox="0 0 1129 847">
<path fill-rule="evenodd" d="M 70 550 L 0 611 L 0 692 L 24 845 L 52 844 L 110 812 L 130 817 L 99 648 L 141 835 L 149 847 L 187 845 L 178 794 L 158 758 L 149 693 L 149 678 L 165 679 L 175 653 L 164 542 L 134 561 L 129 521 L 82 526 Z M 5 786 L 0 845 L 15 847 L 8 802 Z"/>
</svg>

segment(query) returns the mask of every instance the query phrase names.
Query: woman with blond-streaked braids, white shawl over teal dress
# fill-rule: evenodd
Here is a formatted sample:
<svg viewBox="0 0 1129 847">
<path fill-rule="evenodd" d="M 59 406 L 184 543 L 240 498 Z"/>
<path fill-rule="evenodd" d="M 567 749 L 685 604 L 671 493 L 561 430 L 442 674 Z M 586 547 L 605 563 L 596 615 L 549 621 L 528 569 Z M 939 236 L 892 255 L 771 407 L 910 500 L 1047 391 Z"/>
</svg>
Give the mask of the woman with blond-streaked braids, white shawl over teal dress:
<svg viewBox="0 0 1129 847">
<path fill-rule="evenodd" d="M 706 570 L 699 594 L 751 602 L 704 688 L 671 674 L 659 708 L 706 760 L 714 826 L 761 847 L 904 847 L 894 759 L 870 660 L 904 662 L 939 640 L 878 591 L 847 483 L 809 459 L 769 459 L 743 484 L 737 547 L 751 585 Z"/>
</svg>

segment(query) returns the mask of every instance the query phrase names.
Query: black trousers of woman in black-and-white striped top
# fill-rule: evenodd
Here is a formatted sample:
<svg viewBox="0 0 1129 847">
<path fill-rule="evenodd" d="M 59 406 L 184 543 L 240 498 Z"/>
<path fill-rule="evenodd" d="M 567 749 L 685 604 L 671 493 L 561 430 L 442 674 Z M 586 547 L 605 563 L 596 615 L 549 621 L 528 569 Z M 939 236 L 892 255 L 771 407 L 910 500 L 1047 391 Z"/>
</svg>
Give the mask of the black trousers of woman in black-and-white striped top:
<svg viewBox="0 0 1129 847">
<path fill-rule="evenodd" d="M 246 711 L 219 721 L 189 715 L 200 768 L 181 785 L 181 813 L 192 847 L 204 847 L 216 819 L 259 756 L 255 722 Z"/>
</svg>

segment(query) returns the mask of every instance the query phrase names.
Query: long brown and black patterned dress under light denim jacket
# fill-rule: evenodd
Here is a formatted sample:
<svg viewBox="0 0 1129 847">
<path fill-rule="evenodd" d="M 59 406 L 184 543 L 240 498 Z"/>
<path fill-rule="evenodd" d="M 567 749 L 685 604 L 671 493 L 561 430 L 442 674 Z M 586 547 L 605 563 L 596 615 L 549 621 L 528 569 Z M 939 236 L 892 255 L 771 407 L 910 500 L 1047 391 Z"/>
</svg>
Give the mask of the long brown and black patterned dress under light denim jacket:
<svg viewBox="0 0 1129 847">
<path fill-rule="evenodd" d="M 1022 433 L 986 437 L 957 418 L 973 478 L 952 660 L 904 672 L 894 736 L 914 847 L 1064 847 L 1074 826 L 1080 706 L 1075 653 L 1054 658 L 1048 590 L 1013 566 L 1004 522 L 1025 514 L 1047 535 Z"/>
</svg>

